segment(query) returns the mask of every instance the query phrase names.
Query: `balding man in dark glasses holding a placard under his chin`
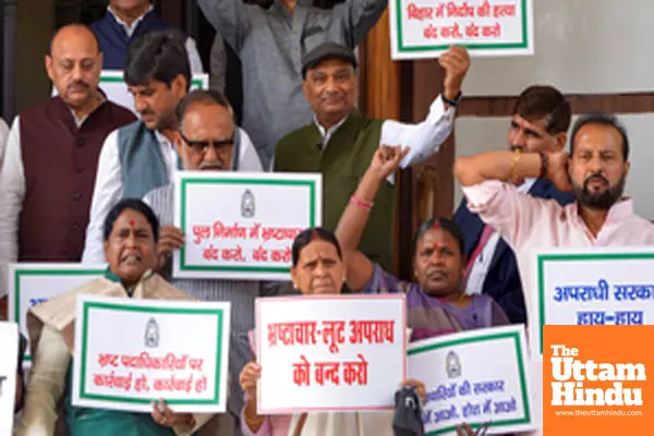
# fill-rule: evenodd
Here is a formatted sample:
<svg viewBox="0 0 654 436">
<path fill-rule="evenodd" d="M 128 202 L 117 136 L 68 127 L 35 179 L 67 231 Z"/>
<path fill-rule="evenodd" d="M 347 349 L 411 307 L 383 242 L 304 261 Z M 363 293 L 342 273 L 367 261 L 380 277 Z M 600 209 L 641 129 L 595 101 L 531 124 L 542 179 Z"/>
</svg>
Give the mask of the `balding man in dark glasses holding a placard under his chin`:
<svg viewBox="0 0 654 436">
<path fill-rule="evenodd" d="M 184 170 L 239 171 L 241 144 L 237 141 L 237 125 L 227 98 L 216 90 L 195 89 L 187 94 L 177 108 L 180 135 L 175 149 Z M 254 150 L 252 150 L 254 152 Z M 172 251 L 184 245 L 182 229 L 173 226 L 174 185 L 167 184 L 145 196 L 161 228 L 157 256 L 161 274 L 177 288 L 203 301 L 229 301 L 231 303 L 231 328 L 234 339 L 243 338 L 242 347 L 232 347 L 231 373 L 238 375 L 249 360 L 246 334 L 254 328 L 254 300 L 259 295 L 256 280 L 184 279 L 172 278 Z M 238 427 L 241 410 L 238 380 L 232 380 L 230 411 Z"/>
</svg>

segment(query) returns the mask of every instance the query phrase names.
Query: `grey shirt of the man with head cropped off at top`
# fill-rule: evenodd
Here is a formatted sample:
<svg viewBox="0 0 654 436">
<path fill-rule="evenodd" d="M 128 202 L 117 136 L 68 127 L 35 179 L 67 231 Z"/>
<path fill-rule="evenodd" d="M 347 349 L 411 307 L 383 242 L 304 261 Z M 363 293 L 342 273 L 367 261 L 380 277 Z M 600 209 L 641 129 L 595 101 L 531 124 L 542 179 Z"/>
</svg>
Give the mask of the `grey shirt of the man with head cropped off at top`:
<svg viewBox="0 0 654 436">
<path fill-rule="evenodd" d="M 275 144 L 312 120 L 302 92 L 302 57 L 326 40 L 354 49 L 388 0 L 346 0 L 329 10 L 298 1 L 292 14 L 279 0 L 268 9 L 240 0 L 198 3 L 241 59 L 243 129 L 269 168 Z"/>
</svg>

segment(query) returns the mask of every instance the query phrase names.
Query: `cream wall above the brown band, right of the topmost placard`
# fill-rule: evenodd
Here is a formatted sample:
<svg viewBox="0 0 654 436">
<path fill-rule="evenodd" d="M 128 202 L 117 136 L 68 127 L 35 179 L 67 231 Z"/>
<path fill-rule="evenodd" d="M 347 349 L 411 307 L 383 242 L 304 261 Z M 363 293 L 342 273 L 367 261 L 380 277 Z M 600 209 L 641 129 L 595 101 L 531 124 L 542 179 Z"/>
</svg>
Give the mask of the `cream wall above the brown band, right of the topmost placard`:
<svg viewBox="0 0 654 436">
<path fill-rule="evenodd" d="M 475 58 L 468 96 L 513 96 L 535 83 L 565 94 L 654 90 L 653 0 L 534 0 L 535 55 Z"/>
</svg>

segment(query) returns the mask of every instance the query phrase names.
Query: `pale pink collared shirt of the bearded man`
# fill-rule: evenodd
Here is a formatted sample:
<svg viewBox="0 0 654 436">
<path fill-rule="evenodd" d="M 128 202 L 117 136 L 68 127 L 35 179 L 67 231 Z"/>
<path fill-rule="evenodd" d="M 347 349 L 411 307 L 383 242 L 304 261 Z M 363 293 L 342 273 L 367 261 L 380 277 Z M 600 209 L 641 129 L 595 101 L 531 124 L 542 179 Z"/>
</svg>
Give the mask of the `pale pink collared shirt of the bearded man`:
<svg viewBox="0 0 654 436">
<path fill-rule="evenodd" d="M 654 245 L 654 225 L 633 214 L 633 202 L 621 199 L 608 210 L 596 237 L 579 216 L 577 202 L 561 206 L 556 199 L 535 198 L 516 186 L 489 180 L 463 187 L 468 207 L 493 226 L 516 253 L 528 317 L 532 307 L 532 253 L 538 249 L 583 249 L 591 246 Z M 534 423 L 542 434 L 543 361 L 532 361 Z"/>
</svg>

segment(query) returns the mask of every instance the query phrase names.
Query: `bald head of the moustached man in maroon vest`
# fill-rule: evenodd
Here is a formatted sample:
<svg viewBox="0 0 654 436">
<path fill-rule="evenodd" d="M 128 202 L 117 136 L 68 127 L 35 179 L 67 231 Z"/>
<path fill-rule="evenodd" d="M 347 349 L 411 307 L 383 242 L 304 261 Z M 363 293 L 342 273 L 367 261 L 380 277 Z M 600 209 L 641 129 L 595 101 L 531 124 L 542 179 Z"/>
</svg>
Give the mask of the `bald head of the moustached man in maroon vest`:
<svg viewBox="0 0 654 436">
<path fill-rule="evenodd" d="M 46 70 L 59 95 L 74 110 L 97 99 L 102 55 L 95 34 L 82 24 L 61 27 L 52 37 Z"/>
</svg>

